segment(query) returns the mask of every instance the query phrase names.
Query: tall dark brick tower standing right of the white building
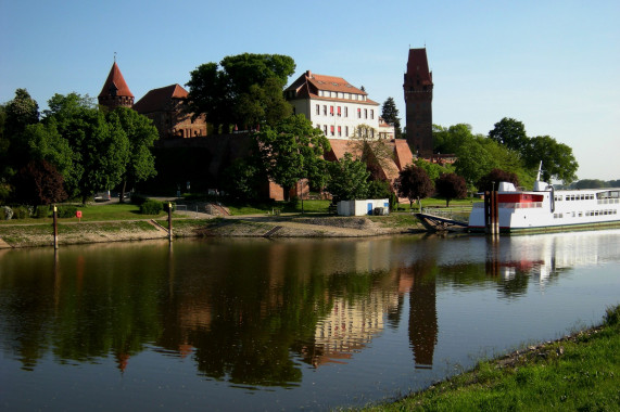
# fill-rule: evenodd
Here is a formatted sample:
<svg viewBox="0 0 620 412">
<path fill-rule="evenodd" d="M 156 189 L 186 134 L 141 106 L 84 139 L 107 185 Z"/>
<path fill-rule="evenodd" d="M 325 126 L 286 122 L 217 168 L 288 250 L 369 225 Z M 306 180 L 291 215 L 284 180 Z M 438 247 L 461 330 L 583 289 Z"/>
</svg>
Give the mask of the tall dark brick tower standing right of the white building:
<svg viewBox="0 0 620 412">
<path fill-rule="evenodd" d="M 431 157 L 433 76 L 429 72 L 427 49 L 409 49 L 403 89 L 407 111 L 407 143 L 418 156 Z"/>
</svg>

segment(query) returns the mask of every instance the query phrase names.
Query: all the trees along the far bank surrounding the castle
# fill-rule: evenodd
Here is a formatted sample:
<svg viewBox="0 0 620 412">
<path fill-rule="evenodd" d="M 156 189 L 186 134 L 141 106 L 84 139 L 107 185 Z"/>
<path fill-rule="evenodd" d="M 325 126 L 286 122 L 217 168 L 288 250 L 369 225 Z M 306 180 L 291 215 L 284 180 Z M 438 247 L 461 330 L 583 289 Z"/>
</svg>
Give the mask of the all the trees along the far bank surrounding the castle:
<svg viewBox="0 0 620 412">
<path fill-rule="evenodd" d="M 352 154 L 326 162 L 328 139 L 305 116 L 293 115 L 283 96 L 294 70 L 290 56 L 244 53 L 190 73 L 187 113 L 204 115 L 216 133 L 235 127 L 253 131 L 252 155 L 232 162 L 222 179 L 235 197 L 257 198 L 267 180 L 284 188 L 287 196 L 303 180 L 341 199 L 395 192 L 413 202 L 434 191 L 450 202 L 497 179 L 530 186 L 541 160 L 545 180 L 575 180 L 578 164 L 569 146 L 548 136 L 530 138 L 513 118 L 503 118 L 488 136 L 473 134 L 466 124 L 433 126 L 434 152 L 454 154 L 456 163 L 417 160 L 393 186 L 380 172 L 393 153 L 385 141 L 369 139 L 369 126 L 353 131 Z M 128 108 L 102 110 L 76 93 L 55 94 L 48 107 L 39 113 L 25 89 L 0 105 L 0 202 L 86 202 L 97 191 L 124 191 L 156 175 L 150 149 L 157 131 L 147 117 Z M 396 138 L 403 134 L 392 98 L 383 103 L 382 117 Z M 430 183 L 420 181 L 425 175 Z"/>
</svg>

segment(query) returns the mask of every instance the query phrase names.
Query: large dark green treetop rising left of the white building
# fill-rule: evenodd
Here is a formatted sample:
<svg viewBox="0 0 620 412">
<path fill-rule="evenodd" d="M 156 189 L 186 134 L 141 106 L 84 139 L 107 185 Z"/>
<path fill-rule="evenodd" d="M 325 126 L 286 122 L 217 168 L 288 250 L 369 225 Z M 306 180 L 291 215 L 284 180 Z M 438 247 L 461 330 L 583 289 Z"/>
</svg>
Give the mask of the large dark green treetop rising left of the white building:
<svg viewBox="0 0 620 412">
<path fill-rule="evenodd" d="M 274 126 L 290 115 L 282 88 L 295 70 L 292 57 L 244 53 L 206 63 L 190 73 L 188 112 L 204 114 L 215 130 L 231 125 Z"/>
</svg>

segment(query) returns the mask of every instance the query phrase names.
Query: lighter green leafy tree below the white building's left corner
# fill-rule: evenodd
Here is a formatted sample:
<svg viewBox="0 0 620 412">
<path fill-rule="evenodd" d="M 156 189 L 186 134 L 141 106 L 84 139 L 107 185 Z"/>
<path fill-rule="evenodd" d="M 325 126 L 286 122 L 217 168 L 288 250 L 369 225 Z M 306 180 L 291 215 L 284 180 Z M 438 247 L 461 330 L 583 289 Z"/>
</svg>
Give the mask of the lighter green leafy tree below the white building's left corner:
<svg viewBox="0 0 620 412">
<path fill-rule="evenodd" d="M 322 154 L 329 150 L 329 141 L 304 115 L 288 117 L 274 128 L 266 126 L 254 137 L 262 169 L 284 188 L 287 199 L 298 181 L 325 180 Z"/>
</svg>

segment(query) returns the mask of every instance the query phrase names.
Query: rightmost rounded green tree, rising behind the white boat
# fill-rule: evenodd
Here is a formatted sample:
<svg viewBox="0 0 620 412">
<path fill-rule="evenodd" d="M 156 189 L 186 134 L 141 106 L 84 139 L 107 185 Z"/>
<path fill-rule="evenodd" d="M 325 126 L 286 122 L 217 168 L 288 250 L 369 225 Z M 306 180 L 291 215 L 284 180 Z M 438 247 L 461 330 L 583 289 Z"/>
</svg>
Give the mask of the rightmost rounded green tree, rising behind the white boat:
<svg viewBox="0 0 620 412">
<path fill-rule="evenodd" d="M 544 181 L 558 179 L 569 184 L 577 179 L 579 164 L 568 145 L 548 136 L 537 136 L 529 140 L 523 152 L 527 167 L 537 169 L 540 162 L 543 162 Z"/>
</svg>

